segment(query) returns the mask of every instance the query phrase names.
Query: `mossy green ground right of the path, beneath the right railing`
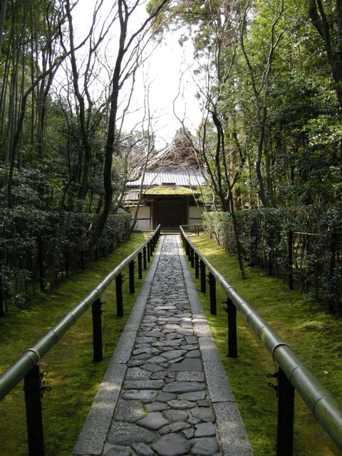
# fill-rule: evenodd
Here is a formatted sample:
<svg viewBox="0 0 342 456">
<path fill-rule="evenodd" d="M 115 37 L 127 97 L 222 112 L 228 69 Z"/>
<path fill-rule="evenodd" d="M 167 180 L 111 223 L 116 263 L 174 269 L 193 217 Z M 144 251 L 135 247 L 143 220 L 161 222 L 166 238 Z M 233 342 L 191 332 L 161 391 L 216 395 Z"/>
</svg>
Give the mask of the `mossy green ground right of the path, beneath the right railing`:
<svg viewBox="0 0 342 456">
<path fill-rule="evenodd" d="M 309 296 L 289 291 L 280 279 L 264 271 L 247 267 L 247 279 L 241 279 L 235 257 L 202 234 L 191 238 L 196 247 L 232 284 L 239 294 L 273 326 L 336 397 L 342 402 L 342 321 L 329 314 Z M 194 269 L 192 269 L 194 274 Z M 266 377 L 276 367 L 254 333 L 238 316 L 237 359 L 227 356 L 227 314 L 225 296 L 217 286 L 217 316 L 209 314 L 209 294 L 199 297 L 227 371 L 239 408 L 247 427 L 255 456 L 276 454 L 276 395 L 268 387 L 274 379 Z M 296 395 L 294 426 L 295 456 L 341 455 L 309 409 Z"/>
</svg>

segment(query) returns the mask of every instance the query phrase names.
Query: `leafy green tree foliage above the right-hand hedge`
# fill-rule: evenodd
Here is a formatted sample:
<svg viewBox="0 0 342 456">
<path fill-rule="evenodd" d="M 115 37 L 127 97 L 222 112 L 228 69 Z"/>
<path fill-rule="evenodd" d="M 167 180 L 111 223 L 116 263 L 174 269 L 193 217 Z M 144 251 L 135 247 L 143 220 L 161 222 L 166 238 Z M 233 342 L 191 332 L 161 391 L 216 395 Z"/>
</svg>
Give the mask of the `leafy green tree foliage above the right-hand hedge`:
<svg viewBox="0 0 342 456">
<path fill-rule="evenodd" d="M 245 6 L 244 1 L 177 1 L 160 19 L 191 30 L 195 75 L 209 120 L 205 134 L 204 123 L 199 127 L 200 142 L 204 144 L 205 136 L 209 150 L 207 167 L 220 170 L 226 160 L 229 178 L 239 170 L 234 186 L 239 208 L 261 205 L 261 184 L 265 206 L 338 203 L 341 113 L 326 48 L 309 21 L 308 2 L 285 0 L 279 16 L 280 0 L 255 0 L 243 21 Z M 335 49 L 336 10 L 332 2 L 324 9 Z M 224 130 L 225 157 L 220 156 L 219 163 L 214 162 L 218 136 L 213 113 Z M 244 152 L 243 167 L 237 140 Z M 223 172 L 222 177 L 227 193 Z M 213 190 L 219 207 L 222 197 Z"/>
</svg>

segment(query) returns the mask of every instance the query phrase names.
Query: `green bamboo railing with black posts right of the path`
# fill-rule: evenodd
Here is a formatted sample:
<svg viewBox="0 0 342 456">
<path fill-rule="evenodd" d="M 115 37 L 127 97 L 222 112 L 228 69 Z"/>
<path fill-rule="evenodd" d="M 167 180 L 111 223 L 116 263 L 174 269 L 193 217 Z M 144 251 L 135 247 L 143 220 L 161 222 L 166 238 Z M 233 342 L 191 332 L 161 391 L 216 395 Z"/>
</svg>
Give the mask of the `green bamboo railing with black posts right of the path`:
<svg viewBox="0 0 342 456">
<path fill-rule="evenodd" d="M 333 442 L 342 450 L 342 405 L 316 378 L 314 373 L 305 366 L 291 347 L 281 339 L 274 328 L 261 318 L 224 276 L 209 263 L 203 254 L 192 244 L 184 229 L 180 227 L 182 244 L 195 268 L 195 278 L 200 279 L 201 291 L 205 293 L 207 276 L 209 281 L 210 313 L 217 314 L 216 282 L 221 285 L 227 296 L 228 314 L 228 356 L 237 358 L 237 311 L 247 321 L 261 343 L 271 353 L 278 371 L 274 374 L 278 385 L 278 428 L 276 439 L 276 455 L 291 456 L 294 434 L 294 392 L 304 399 L 318 422 L 328 432 Z"/>
</svg>

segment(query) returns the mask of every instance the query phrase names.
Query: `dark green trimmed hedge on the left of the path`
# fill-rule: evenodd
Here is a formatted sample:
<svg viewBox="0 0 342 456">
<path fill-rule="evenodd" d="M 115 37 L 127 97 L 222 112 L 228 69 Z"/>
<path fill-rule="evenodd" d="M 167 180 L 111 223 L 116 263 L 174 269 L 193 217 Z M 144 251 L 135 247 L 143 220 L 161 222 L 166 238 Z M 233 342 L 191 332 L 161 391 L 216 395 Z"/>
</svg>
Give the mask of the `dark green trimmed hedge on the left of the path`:
<svg viewBox="0 0 342 456">
<path fill-rule="evenodd" d="M 94 214 L 31 211 L 24 207 L 1 213 L 0 316 L 9 303 L 24 306 L 37 288 L 51 289 L 71 271 L 105 257 L 130 236 L 130 216 L 113 214 L 94 249 L 88 248 Z M 9 234 L 10 239 L 9 239 Z M 6 239 L 7 234 L 7 239 Z"/>
</svg>

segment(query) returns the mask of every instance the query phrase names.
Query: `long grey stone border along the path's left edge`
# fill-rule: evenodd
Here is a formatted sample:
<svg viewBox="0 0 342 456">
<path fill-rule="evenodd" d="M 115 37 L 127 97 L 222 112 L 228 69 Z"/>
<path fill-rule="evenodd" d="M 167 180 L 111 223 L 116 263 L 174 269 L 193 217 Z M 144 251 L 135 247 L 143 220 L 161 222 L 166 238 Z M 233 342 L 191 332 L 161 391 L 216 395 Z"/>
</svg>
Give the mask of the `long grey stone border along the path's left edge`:
<svg viewBox="0 0 342 456">
<path fill-rule="evenodd" d="M 133 351 L 135 337 L 137 336 L 140 321 L 145 311 L 147 296 L 150 293 L 152 279 L 157 269 L 164 239 L 164 237 L 160 237 L 160 242 L 150 264 L 150 269 L 147 272 L 123 333 L 110 359 L 93 404 L 83 423 L 83 428 L 73 447 L 73 456 L 100 456 L 103 453 L 105 440 L 127 370 L 125 363 L 130 359 Z"/>
</svg>

